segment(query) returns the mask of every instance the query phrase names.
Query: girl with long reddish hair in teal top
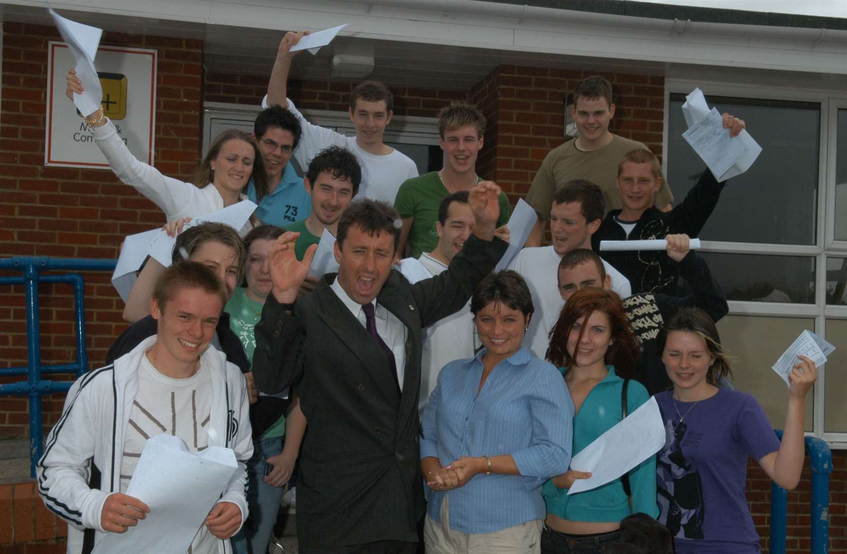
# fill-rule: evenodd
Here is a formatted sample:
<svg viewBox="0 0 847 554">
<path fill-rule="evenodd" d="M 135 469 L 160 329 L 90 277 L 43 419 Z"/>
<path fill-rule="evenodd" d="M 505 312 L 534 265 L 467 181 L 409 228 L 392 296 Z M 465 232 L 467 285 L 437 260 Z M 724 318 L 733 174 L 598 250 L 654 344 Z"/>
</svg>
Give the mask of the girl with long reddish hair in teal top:
<svg viewBox="0 0 847 554">
<path fill-rule="evenodd" d="M 551 332 L 548 359 L 560 367 L 576 407 L 573 418 L 573 455 L 622 419 L 624 379 L 633 375 L 639 346 L 616 293 L 583 288 L 567 299 Z M 628 381 L 627 412 L 649 395 L 637 381 Z M 620 521 L 636 512 L 653 518 L 656 504 L 656 458 L 629 472 L 631 496 L 621 480 L 567 495 L 577 479 L 590 474 L 568 470 L 548 480 L 542 490 L 547 507 L 542 554 L 605 552 L 620 539 Z"/>
</svg>

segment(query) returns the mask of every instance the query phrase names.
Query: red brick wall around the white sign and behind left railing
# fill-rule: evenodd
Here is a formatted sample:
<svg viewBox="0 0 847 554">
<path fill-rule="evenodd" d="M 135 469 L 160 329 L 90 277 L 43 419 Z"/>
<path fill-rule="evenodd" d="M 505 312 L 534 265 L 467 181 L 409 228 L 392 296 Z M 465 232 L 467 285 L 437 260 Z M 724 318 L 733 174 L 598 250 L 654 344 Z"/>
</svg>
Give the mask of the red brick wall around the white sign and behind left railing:
<svg viewBox="0 0 847 554">
<path fill-rule="evenodd" d="M 3 24 L 3 102 L 0 105 L 0 256 L 115 258 L 125 235 L 159 225 L 152 202 L 108 170 L 44 167 L 47 41 L 53 27 Z M 202 42 L 104 33 L 103 45 L 158 50 L 156 166 L 188 178 L 200 150 Z M 68 101 L 68 108 L 74 109 Z M 14 275 L 14 273 L 12 273 Z M 20 273 L 17 273 L 20 275 Z M 90 366 L 102 365 L 121 332 L 123 303 L 106 273 L 86 274 L 86 341 Z M 66 285 L 40 287 L 42 361 L 75 360 L 74 297 Z M 0 366 L 26 364 L 24 288 L 0 287 Z M 59 379 L 65 376 L 57 376 Z M 19 381 L 2 378 L 0 382 Z M 45 397 L 45 429 L 64 395 Z M 25 398 L 3 398 L 0 437 L 26 436 Z"/>
</svg>

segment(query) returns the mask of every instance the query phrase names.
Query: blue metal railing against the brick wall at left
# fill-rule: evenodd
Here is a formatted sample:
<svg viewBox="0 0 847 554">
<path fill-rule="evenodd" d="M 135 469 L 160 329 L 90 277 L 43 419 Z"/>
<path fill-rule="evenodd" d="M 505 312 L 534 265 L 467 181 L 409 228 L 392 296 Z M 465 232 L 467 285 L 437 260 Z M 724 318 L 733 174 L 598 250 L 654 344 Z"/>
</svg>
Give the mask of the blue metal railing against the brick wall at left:
<svg viewBox="0 0 847 554">
<path fill-rule="evenodd" d="M 36 476 L 36 463 L 42 457 L 42 394 L 67 392 L 72 381 L 43 380 L 43 374 L 86 372 L 85 282 L 79 273 L 42 275 L 48 271 L 113 271 L 114 260 L 75 260 L 69 258 L 17 257 L 0 260 L 0 270 L 23 272 L 21 277 L 0 277 L 0 285 L 24 285 L 26 292 L 25 367 L 0 368 L 0 376 L 27 376 L 26 381 L 0 385 L 0 395 L 30 398 L 30 476 Z M 38 283 L 66 283 L 74 287 L 76 320 L 76 361 L 71 364 L 42 365 L 38 315 Z"/>
</svg>

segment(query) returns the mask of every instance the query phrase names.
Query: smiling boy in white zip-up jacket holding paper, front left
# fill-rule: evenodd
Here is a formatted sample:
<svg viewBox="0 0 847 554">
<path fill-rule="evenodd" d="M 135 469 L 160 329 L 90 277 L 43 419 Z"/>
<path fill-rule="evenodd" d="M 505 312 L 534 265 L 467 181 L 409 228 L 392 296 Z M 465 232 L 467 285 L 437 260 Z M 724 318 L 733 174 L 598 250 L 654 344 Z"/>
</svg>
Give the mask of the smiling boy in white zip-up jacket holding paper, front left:
<svg viewBox="0 0 847 554">
<path fill-rule="evenodd" d="M 68 552 L 83 551 L 86 531 L 143 527 L 151 508 L 125 492 L 147 439 L 163 433 L 179 436 L 190 452 L 234 450 L 239 469 L 186 548 L 231 552 L 230 536 L 247 516 L 245 463 L 253 448 L 241 370 L 208 348 L 228 296 L 207 266 L 170 266 L 150 302 L 157 334 L 70 388 L 37 466 L 45 505 L 70 524 Z M 88 481 L 94 468 L 99 488 Z"/>
</svg>

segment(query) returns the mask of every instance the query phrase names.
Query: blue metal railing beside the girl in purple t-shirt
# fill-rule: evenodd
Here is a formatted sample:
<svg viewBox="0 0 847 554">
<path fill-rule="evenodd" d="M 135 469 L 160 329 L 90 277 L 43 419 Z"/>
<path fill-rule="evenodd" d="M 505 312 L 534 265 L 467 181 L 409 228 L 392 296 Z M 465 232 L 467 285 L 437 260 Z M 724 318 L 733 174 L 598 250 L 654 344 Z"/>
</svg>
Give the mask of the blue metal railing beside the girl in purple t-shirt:
<svg viewBox="0 0 847 554">
<path fill-rule="evenodd" d="M 782 439 L 783 431 L 775 431 Z M 826 442 L 805 437 L 805 453 L 811 466 L 811 554 L 829 551 L 829 474 L 833 472 L 833 454 Z M 785 554 L 785 535 L 789 493 L 771 486 L 771 554 Z"/>
</svg>

